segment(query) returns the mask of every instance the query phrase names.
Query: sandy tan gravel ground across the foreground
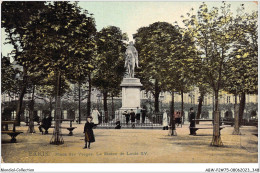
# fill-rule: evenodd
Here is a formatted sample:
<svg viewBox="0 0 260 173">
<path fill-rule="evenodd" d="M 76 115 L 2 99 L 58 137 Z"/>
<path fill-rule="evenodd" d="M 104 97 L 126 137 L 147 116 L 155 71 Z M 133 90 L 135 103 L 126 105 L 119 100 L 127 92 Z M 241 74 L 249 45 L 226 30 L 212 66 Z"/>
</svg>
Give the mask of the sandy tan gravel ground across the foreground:
<svg viewBox="0 0 260 173">
<path fill-rule="evenodd" d="M 223 147 L 211 147 L 212 130 L 199 130 L 190 136 L 188 125 L 177 128 L 177 136 L 155 129 L 94 129 L 96 142 L 83 149 L 83 124 L 75 124 L 73 136 L 62 130 L 64 144 L 50 145 L 50 134 L 28 134 L 27 126 L 17 143 L 2 135 L 2 157 L 6 163 L 257 163 L 256 127 L 241 128 L 242 135 L 232 135 L 233 127 L 221 131 Z"/>
</svg>

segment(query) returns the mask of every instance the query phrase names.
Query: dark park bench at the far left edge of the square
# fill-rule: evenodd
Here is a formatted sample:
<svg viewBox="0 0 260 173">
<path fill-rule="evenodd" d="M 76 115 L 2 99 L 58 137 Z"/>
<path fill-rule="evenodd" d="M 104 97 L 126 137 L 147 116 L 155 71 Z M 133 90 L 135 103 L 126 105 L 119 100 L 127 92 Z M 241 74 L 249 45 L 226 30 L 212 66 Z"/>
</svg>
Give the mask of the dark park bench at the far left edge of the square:
<svg viewBox="0 0 260 173">
<path fill-rule="evenodd" d="M 23 133 L 21 131 L 16 131 L 15 129 L 15 124 L 16 121 L 2 121 L 2 130 L 1 130 L 1 134 L 7 134 L 11 137 L 11 142 L 15 143 L 16 142 L 16 136 L 18 136 L 19 134 Z M 9 130 L 8 129 L 8 125 L 9 124 L 13 124 L 13 129 Z"/>
</svg>

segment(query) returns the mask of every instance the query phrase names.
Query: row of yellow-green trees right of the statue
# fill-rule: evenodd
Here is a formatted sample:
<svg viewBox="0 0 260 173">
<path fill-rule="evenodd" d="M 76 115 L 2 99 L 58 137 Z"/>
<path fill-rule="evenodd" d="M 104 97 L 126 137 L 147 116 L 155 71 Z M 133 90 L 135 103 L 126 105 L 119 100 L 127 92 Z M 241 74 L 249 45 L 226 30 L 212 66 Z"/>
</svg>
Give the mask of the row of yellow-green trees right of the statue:
<svg viewBox="0 0 260 173">
<path fill-rule="evenodd" d="M 242 121 L 245 94 L 257 94 L 258 34 L 257 12 L 247 14 L 241 4 L 238 14 L 232 14 L 230 4 L 208 9 L 203 3 L 198 11 L 191 9 L 182 16 L 185 28 L 177 24 L 157 22 L 138 29 L 134 35 L 140 55 L 142 79 L 147 92 L 155 98 L 159 111 L 161 91 L 183 95 L 197 86 L 200 91 L 197 118 L 203 97 L 214 94 L 214 137 L 212 145 L 222 145 L 219 135 L 219 93 L 240 95 L 239 120 Z M 238 127 L 238 126 L 237 126 Z"/>
</svg>

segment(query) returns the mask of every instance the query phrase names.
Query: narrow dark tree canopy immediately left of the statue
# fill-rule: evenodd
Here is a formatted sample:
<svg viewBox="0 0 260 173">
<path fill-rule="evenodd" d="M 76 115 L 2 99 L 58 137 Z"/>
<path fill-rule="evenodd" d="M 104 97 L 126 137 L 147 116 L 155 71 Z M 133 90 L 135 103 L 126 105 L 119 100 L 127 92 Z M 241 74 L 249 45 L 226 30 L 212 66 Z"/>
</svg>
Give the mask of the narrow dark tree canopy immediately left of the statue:
<svg viewBox="0 0 260 173">
<path fill-rule="evenodd" d="M 109 26 L 97 33 L 96 71 L 93 84 L 102 93 L 118 95 L 120 83 L 123 79 L 124 53 L 126 50 L 124 40 L 127 36 L 120 28 Z"/>
</svg>

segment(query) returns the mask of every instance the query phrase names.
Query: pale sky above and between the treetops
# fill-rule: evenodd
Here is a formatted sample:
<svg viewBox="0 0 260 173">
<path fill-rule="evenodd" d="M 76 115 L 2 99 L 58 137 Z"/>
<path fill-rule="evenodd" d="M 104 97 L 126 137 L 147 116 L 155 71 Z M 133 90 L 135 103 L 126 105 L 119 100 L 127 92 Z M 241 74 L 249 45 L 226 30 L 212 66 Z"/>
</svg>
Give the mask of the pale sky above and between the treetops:
<svg viewBox="0 0 260 173">
<path fill-rule="evenodd" d="M 136 33 L 137 29 L 143 26 L 149 26 L 154 22 L 169 22 L 173 24 L 175 21 L 182 26 L 181 15 L 190 12 L 194 8 L 197 12 L 198 7 L 203 1 L 192 2 L 173 2 L 173 1 L 81 1 L 79 6 L 88 10 L 89 13 L 94 14 L 97 30 L 100 31 L 106 26 L 117 26 L 121 28 L 122 32 L 127 33 L 129 40 L 133 40 L 132 35 Z M 253 1 L 231 1 L 231 9 L 234 14 L 240 4 L 245 4 L 246 12 L 251 13 L 257 11 L 258 6 Z M 207 1 L 209 9 L 212 7 L 219 7 L 221 1 Z M 3 45 L 5 39 L 2 30 L 2 53 L 4 56 L 10 53 L 12 47 L 10 45 Z"/>
</svg>

